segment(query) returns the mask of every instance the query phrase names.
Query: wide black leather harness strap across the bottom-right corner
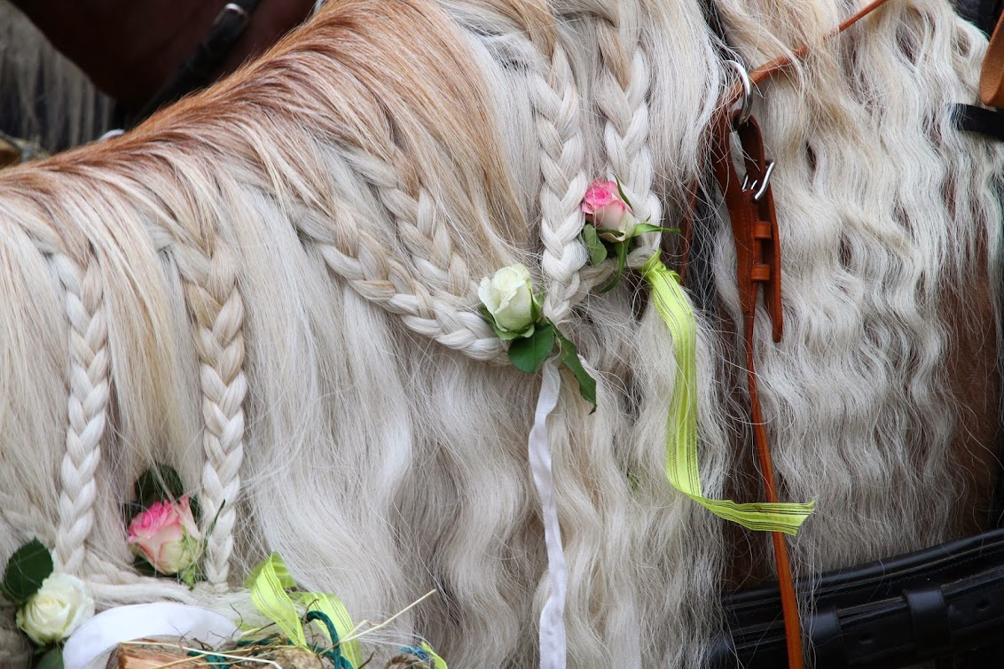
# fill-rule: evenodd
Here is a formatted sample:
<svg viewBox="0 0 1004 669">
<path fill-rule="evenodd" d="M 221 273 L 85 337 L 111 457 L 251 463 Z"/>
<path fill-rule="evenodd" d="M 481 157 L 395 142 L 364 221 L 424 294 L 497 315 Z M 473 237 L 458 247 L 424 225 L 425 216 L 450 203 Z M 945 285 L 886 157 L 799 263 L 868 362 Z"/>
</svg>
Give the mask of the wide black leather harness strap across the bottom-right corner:
<svg viewBox="0 0 1004 669">
<path fill-rule="evenodd" d="M 1004 636 L 1004 530 L 837 570 L 799 588 L 814 589 L 816 597 L 805 627 L 817 669 L 902 667 L 960 655 Z M 708 666 L 784 666 L 780 603 L 776 584 L 723 597 L 730 632 Z M 997 659 L 966 666 L 996 666 Z"/>
</svg>

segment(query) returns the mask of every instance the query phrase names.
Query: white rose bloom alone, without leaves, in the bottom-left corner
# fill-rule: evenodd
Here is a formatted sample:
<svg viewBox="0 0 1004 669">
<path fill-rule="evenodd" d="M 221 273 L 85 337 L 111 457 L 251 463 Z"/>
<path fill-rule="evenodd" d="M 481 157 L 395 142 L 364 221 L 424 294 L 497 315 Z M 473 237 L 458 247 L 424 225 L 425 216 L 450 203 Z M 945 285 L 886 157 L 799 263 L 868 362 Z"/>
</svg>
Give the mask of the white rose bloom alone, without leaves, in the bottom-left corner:
<svg viewBox="0 0 1004 669">
<path fill-rule="evenodd" d="M 17 610 L 17 626 L 39 646 L 48 646 L 67 638 L 93 615 L 94 600 L 83 582 L 56 572 Z"/>
</svg>

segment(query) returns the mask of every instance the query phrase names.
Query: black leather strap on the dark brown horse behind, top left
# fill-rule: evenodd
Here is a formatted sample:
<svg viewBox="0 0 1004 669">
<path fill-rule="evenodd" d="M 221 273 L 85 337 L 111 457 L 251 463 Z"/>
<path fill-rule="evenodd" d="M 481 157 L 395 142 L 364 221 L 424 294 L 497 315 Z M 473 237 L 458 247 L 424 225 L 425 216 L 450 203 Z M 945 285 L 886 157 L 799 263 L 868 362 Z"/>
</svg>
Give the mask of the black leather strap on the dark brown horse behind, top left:
<svg viewBox="0 0 1004 669">
<path fill-rule="evenodd" d="M 232 0 L 217 14 L 206 39 L 196 47 L 178 72 L 140 111 L 130 116 L 127 127 L 133 127 L 163 106 L 176 102 L 188 93 L 206 85 L 213 72 L 223 64 L 251 22 L 251 15 L 260 0 Z"/>
</svg>

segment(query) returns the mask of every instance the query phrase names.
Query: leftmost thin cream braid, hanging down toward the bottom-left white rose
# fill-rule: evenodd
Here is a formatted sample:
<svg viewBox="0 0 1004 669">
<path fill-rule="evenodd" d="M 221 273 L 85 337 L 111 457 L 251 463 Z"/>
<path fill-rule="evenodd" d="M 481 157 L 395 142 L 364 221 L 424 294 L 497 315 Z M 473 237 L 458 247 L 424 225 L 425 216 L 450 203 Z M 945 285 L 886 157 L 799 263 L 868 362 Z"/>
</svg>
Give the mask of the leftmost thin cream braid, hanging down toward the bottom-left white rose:
<svg viewBox="0 0 1004 669">
<path fill-rule="evenodd" d="M 88 254 L 81 269 L 64 254 L 49 257 L 63 286 L 69 321 L 66 454 L 59 467 L 59 525 L 55 561 L 79 573 L 94 526 L 94 474 L 101 459 L 107 421 L 110 358 L 104 288 L 97 262 Z"/>
</svg>

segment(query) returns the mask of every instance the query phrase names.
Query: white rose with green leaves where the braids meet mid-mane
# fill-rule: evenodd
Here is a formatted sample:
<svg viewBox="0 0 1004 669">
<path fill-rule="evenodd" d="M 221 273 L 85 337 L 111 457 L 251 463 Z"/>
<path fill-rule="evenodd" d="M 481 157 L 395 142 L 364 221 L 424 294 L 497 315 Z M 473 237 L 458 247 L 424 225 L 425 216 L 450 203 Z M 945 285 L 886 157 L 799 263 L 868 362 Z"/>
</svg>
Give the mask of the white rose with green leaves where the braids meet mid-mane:
<svg viewBox="0 0 1004 669">
<path fill-rule="evenodd" d="M 509 360 L 522 372 L 533 374 L 555 351 L 575 375 L 578 392 L 596 408 L 596 381 L 581 360 L 575 345 L 543 315 L 543 294 L 533 292 L 530 272 L 523 265 L 503 267 L 485 277 L 478 288 L 481 313 L 502 341 L 509 343 Z"/>
</svg>

